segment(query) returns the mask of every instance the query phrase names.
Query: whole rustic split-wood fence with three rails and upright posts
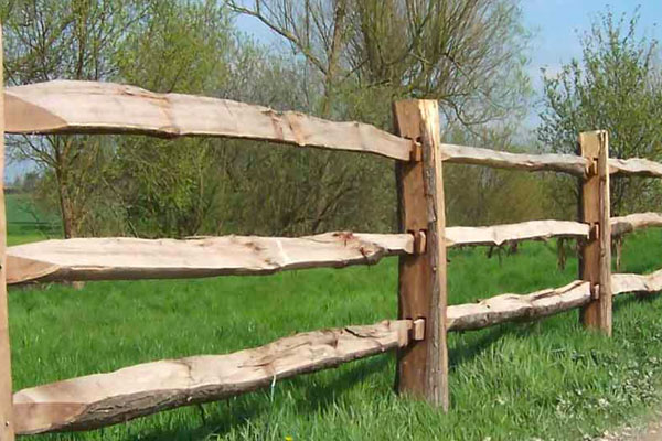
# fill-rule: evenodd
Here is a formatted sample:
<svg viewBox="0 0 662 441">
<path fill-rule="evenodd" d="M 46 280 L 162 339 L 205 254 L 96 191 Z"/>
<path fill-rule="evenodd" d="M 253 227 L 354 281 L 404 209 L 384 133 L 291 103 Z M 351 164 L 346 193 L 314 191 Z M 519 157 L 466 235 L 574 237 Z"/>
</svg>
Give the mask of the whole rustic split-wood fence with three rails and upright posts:
<svg viewBox="0 0 662 441">
<path fill-rule="evenodd" d="M 300 238 L 229 236 L 188 240 L 76 238 L 7 248 L 4 204 L 0 201 L 1 440 L 11 440 L 14 433 L 100 428 L 164 409 L 236 396 L 266 387 L 275 379 L 389 349 L 398 354 L 397 390 L 447 409 L 448 332 L 581 308 L 586 326 L 610 334 L 613 295 L 662 289 L 662 271 L 611 275 L 611 237 L 662 226 L 662 215 L 610 218 L 610 176 L 660 178 L 662 164 L 609 159 L 605 131 L 581 133 L 578 155 L 516 154 L 441 143 L 439 112 L 431 100 L 396 103 L 397 135 L 392 135 L 360 122 L 333 122 L 225 99 L 154 94 L 116 84 L 56 80 L 9 87 L 0 99 L 0 139 L 4 133 L 209 136 L 392 158 L 398 165 L 402 225 L 399 234 L 338 232 Z M 3 151 L 3 143 L 0 147 Z M 444 162 L 575 175 L 581 182 L 580 218 L 447 228 Z M 579 239 L 578 280 L 526 295 L 502 294 L 479 303 L 447 306 L 447 247 L 549 237 Z M 396 321 L 308 332 L 234 354 L 147 363 L 12 394 L 7 284 L 267 275 L 370 265 L 386 256 L 399 256 Z"/>
</svg>

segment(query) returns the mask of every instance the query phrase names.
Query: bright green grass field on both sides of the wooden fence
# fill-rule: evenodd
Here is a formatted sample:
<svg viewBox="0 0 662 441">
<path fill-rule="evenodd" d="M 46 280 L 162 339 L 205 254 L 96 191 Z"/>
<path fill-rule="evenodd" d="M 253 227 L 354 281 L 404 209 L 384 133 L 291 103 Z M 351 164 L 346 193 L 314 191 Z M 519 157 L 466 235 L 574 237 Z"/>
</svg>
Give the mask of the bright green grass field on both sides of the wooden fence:
<svg viewBox="0 0 662 441">
<path fill-rule="evenodd" d="M 13 238 L 12 241 L 15 241 Z M 453 251 L 450 302 L 528 292 L 575 278 L 553 244 L 487 259 Z M 627 243 L 624 270 L 662 267 L 662 235 Z M 190 281 L 52 284 L 9 295 L 14 388 L 164 357 L 221 354 L 299 331 L 396 314 L 397 260 L 343 270 Z M 658 404 L 662 300 L 616 300 L 613 338 L 577 312 L 451 334 L 451 409 L 398 399 L 393 354 L 277 383 L 270 390 L 44 440 L 578 440 Z M 32 438 L 30 438 L 32 439 Z"/>
</svg>

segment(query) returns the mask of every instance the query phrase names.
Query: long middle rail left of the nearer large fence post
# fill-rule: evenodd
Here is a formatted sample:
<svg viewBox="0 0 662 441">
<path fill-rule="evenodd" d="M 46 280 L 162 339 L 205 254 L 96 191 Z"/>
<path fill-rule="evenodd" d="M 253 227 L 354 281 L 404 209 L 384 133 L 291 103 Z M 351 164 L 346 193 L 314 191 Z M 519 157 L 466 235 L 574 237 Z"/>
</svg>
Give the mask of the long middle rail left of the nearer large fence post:
<svg viewBox="0 0 662 441">
<path fill-rule="evenodd" d="M 300 238 L 74 238 L 8 248 L 8 283 L 268 275 L 371 265 L 413 252 L 409 234 L 327 233 Z"/>
</svg>

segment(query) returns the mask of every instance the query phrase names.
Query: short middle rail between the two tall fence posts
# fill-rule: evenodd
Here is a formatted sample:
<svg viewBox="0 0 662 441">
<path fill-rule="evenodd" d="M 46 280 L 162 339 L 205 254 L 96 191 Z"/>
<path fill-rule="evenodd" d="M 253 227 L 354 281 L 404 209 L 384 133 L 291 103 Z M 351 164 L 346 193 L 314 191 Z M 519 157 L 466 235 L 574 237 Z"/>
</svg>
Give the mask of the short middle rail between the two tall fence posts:
<svg viewBox="0 0 662 441">
<path fill-rule="evenodd" d="M 530 220 L 490 227 L 447 227 L 446 245 L 502 245 L 551 237 L 588 237 L 589 226 L 572 220 Z"/>
</svg>

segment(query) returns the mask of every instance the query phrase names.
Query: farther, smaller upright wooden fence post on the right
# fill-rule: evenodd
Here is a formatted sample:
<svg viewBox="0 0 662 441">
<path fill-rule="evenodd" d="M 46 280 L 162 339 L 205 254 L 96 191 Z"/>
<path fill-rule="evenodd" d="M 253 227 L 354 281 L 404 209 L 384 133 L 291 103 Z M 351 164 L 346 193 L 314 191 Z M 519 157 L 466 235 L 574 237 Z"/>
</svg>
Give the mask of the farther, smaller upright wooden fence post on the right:
<svg viewBox="0 0 662 441">
<path fill-rule="evenodd" d="M 581 323 L 611 335 L 611 227 L 609 224 L 609 136 L 605 130 L 579 135 L 579 149 L 589 160 L 580 185 L 580 220 L 590 237 L 579 256 L 579 278 L 590 281 L 592 300 L 581 309 Z M 596 287 L 597 286 L 597 287 Z"/>
</svg>

